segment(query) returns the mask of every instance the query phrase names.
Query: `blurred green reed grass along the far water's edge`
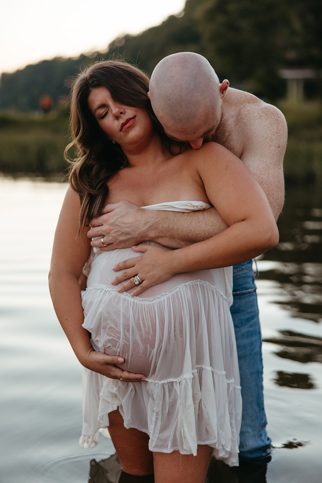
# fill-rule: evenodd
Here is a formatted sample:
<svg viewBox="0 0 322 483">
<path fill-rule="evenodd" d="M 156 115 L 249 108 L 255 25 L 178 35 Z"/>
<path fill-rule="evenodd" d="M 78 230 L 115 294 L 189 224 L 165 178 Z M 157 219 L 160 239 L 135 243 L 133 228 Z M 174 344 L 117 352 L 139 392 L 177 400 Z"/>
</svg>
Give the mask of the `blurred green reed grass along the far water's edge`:
<svg viewBox="0 0 322 483">
<path fill-rule="evenodd" d="M 321 101 L 278 107 L 288 123 L 289 140 L 284 158 L 286 182 L 322 184 Z M 64 149 L 70 142 L 68 113 L 46 115 L 0 113 L 0 171 L 6 174 L 53 176 L 64 173 Z"/>
</svg>

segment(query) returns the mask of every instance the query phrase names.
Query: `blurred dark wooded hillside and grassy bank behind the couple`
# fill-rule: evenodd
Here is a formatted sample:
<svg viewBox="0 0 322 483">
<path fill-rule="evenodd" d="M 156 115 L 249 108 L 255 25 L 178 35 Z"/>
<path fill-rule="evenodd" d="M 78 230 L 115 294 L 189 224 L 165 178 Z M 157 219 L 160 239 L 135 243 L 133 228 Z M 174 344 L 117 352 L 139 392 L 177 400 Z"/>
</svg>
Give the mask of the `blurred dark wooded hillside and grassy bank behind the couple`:
<svg viewBox="0 0 322 483">
<path fill-rule="evenodd" d="M 139 35 L 115 39 L 106 53 L 54 58 L 28 65 L 0 83 L 0 171 L 42 176 L 67 168 L 65 104 L 73 78 L 96 60 L 124 58 L 149 74 L 165 56 L 190 51 L 209 59 L 219 78 L 275 103 L 289 126 L 285 176 L 289 182 L 322 184 L 322 1 L 186 0 L 184 11 Z M 292 105 L 281 68 L 310 68 L 307 101 Z M 56 111 L 40 114 L 43 95 Z M 33 114 L 22 114 L 33 111 Z"/>
</svg>

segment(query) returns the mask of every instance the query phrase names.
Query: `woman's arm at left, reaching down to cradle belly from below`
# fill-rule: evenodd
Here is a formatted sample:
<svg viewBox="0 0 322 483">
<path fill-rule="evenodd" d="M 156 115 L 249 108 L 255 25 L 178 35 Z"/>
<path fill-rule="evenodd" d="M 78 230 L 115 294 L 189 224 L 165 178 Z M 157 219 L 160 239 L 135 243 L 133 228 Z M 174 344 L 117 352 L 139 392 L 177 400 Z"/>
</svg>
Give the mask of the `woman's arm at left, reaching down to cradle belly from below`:
<svg viewBox="0 0 322 483">
<path fill-rule="evenodd" d="M 122 369 L 115 364 L 124 362 L 124 358 L 94 351 L 89 334 L 82 327 L 84 313 L 79 278 L 91 246 L 87 230 L 76 239 L 79 212 L 79 196 L 69 188 L 56 227 L 49 272 L 50 295 L 58 320 L 80 363 L 99 374 L 119 379 Z M 142 377 L 143 374 L 127 371 L 122 375 L 126 381 L 140 381 Z"/>
</svg>

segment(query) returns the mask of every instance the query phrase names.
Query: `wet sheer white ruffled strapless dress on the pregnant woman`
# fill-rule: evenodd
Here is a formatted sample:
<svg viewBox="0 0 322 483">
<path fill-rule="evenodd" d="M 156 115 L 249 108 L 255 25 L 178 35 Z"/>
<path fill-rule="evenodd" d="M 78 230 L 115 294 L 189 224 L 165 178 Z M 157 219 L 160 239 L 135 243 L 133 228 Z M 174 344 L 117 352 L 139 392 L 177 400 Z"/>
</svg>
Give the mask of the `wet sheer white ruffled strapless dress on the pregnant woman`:
<svg viewBox="0 0 322 483">
<path fill-rule="evenodd" d="M 210 206 L 176 201 L 144 208 L 192 212 Z M 140 255 L 131 248 L 93 249 L 84 267 L 83 327 L 92 334 L 93 348 L 122 355 L 119 367 L 145 374 L 146 381 L 126 383 L 84 369 L 80 444 L 94 447 L 98 430 L 109 426 L 109 412 L 119 408 L 126 428 L 149 435 L 151 451 L 196 455 L 198 444 L 208 444 L 214 455 L 238 465 L 241 396 L 229 311 L 232 268 L 180 273 L 138 297 L 118 293 L 110 284 L 112 267 Z"/>
</svg>

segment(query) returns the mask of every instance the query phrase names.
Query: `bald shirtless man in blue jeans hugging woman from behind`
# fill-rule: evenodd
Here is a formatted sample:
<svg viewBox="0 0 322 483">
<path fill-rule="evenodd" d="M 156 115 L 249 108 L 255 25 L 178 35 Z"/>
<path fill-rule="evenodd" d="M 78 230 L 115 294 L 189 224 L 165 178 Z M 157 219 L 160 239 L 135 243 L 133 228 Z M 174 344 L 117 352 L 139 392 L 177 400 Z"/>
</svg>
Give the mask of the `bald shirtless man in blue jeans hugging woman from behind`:
<svg viewBox="0 0 322 483">
<path fill-rule="evenodd" d="M 228 86 L 227 80 L 219 83 L 204 57 L 184 52 L 165 57 L 155 67 L 149 97 L 169 137 L 190 142 L 194 149 L 199 149 L 202 142 L 218 142 L 238 156 L 261 185 L 277 219 L 284 201 L 285 119 L 276 107 Z M 92 242 L 103 250 L 129 247 L 144 240 L 182 247 L 206 240 L 226 228 L 215 209 L 197 213 L 153 212 L 122 201 L 106 206 L 102 213 L 92 221 L 88 236 L 103 237 L 108 245 L 105 248 L 102 238 Z M 243 399 L 240 461 L 265 465 L 270 460 L 270 439 L 266 434 L 261 331 L 252 261 L 235 266 L 233 272 L 231 313 Z M 116 283 L 125 278 L 119 275 Z M 139 293 L 140 286 L 136 290 Z M 116 361 L 111 358 L 111 363 Z M 119 378 L 118 371 L 121 372 L 111 365 L 110 377 Z M 140 380 L 136 374 L 127 377 Z"/>
</svg>

